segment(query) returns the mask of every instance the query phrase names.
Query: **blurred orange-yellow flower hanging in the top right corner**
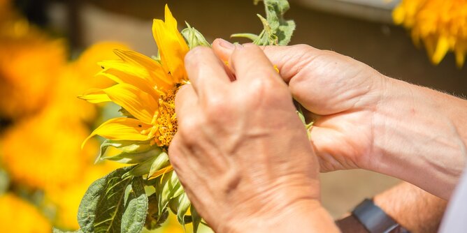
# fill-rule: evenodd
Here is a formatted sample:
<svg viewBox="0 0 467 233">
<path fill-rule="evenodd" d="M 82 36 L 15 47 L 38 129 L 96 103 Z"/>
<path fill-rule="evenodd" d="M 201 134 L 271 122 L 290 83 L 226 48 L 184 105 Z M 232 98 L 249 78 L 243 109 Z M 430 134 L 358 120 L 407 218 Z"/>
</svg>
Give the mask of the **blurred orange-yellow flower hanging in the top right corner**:
<svg viewBox="0 0 467 233">
<path fill-rule="evenodd" d="M 454 51 L 457 66 L 467 53 L 467 0 L 402 0 L 394 9 L 396 24 L 410 29 L 415 44 L 424 43 L 431 62 Z"/>
</svg>

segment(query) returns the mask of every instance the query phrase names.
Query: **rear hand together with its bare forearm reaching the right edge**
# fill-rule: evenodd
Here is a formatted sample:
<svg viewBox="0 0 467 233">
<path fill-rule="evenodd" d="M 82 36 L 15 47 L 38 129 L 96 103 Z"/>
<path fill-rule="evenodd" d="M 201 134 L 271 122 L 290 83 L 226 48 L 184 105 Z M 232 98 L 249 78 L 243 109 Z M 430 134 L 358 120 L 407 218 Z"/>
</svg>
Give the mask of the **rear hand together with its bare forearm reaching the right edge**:
<svg viewBox="0 0 467 233">
<path fill-rule="evenodd" d="M 228 43 L 215 40 L 213 50 L 229 61 Z M 364 168 L 450 196 L 464 168 L 467 135 L 457 132 L 467 128 L 459 123 L 459 116 L 467 115 L 465 100 L 393 80 L 308 45 L 267 46 L 264 52 L 315 121 L 311 143 L 322 172 Z"/>
</svg>

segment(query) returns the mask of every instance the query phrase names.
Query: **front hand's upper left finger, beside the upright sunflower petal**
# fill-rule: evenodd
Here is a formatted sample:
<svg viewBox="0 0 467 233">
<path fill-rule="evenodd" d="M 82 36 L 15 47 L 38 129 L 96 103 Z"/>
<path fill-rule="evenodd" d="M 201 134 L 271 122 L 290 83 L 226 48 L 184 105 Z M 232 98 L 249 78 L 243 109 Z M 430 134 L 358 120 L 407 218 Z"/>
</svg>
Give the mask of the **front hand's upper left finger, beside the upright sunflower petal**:
<svg viewBox="0 0 467 233">
<path fill-rule="evenodd" d="M 224 64 L 208 47 L 195 47 L 185 56 L 185 68 L 199 98 L 223 90 L 229 84 Z"/>
</svg>

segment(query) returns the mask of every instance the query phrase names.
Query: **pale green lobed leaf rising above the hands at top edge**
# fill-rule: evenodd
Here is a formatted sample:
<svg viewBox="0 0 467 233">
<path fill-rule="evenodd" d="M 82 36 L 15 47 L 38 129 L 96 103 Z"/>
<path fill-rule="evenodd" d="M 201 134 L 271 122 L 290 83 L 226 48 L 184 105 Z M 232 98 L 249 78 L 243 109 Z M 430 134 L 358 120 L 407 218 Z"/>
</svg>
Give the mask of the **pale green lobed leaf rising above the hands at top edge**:
<svg viewBox="0 0 467 233">
<path fill-rule="evenodd" d="M 261 0 L 254 0 L 254 4 Z M 254 34 L 240 33 L 233 36 L 246 37 L 254 39 L 256 45 L 287 45 L 295 31 L 294 20 L 285 20 L 284 14 L 289 10 L 289 2 L 287 0 L 263 0 L 266 17 L 258 15 L 259 20 L 263 24 L 263 31 L 259 36 Z"/>
</svg>

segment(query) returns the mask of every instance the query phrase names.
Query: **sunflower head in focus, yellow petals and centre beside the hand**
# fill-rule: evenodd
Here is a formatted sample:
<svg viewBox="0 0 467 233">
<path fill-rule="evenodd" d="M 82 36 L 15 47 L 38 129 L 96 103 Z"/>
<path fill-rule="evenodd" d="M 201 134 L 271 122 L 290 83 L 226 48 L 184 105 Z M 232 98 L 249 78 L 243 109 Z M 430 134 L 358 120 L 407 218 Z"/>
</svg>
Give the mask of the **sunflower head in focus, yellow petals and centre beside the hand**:
<svg viewBox="0 0 467 233">
<path fill-rule="evenodd" d="M 117 84 L 89 90 L 80 98 L 90 103 L 116 103 L 126 117 L 102 123 L 87 139 L 100 135 L 108 140 L 147 141 L 161 147 L 170 144 L 177 130 L 175 93 L 188 82 L 183 59 L 189 47 L 168 6 L 165 22 L 154 20 L 152 33 L 160 59 L 129 50 L 114 50 L 120 59 L 99 63 L 103 70 L 98 75 Z"/>
</svg>

